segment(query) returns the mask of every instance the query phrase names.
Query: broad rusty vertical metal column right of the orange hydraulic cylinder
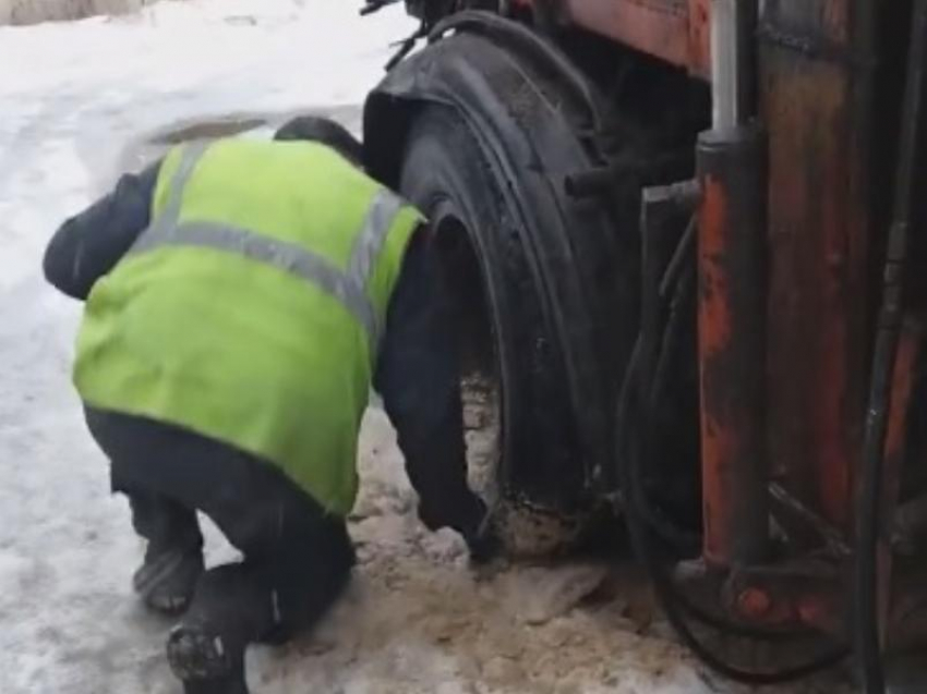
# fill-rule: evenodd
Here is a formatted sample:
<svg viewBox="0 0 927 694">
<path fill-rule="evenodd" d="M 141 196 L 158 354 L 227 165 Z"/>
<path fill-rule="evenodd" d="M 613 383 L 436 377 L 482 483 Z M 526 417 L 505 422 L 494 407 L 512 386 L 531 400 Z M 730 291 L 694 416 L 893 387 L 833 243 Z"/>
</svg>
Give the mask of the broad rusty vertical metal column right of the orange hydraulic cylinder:
<svg viewBox="0 0 927 694">
<path fill-rule="evenodd" d="M 798 498 L 844 529 L 871 343 L 871 82 L 864 57 L 851 59 L 850 2 L 768 0 L 760 28 L 771 461 Z"/>
</svg>

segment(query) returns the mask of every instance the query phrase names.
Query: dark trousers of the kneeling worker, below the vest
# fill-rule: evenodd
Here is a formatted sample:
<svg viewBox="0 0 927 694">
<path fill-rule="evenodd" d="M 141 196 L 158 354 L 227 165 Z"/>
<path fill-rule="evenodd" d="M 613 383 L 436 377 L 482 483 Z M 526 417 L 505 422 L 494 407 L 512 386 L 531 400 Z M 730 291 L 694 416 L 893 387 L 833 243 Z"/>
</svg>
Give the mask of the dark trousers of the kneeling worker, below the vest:
<svg viewBox="0 0 927 694">
<path fill-rule="evenodd" d="M 354 552 L 345 520 L 270 464 L 151 419 L 89 407 L 86 419 L 149 550 L 202 544 L 200 510 L 244 555 L 203 574 L 185 620 L 242 648 L 279 643 L 317 621 L 347 585 Z"/>
</svg>

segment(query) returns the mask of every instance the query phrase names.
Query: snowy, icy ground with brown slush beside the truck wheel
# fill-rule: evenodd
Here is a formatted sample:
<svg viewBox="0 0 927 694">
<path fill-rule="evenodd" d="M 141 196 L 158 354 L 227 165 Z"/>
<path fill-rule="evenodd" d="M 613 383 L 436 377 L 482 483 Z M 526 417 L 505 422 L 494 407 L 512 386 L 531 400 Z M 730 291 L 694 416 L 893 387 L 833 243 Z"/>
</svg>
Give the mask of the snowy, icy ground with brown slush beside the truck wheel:
<svg viewBox="0 0 927 694">
<path fill-rule="evenodd" d="M 49 235 L 178 122 L 301 109 L 356 127 L 387 42 L 410 28 L 397 12 L 361 21 L 349 0 L 164 3 L 0 28 L 3 694 L 179 691 L 162 657 L 170 624 L 131 595 L 140 543 L 70 386 L 80 306 L 43 282 Z M 603 599 L 600 568 L 518 567 L 477 581 L 456 536 L 418 524 L 380 412 L 368 417 L 361 467 L 350 594 L 315 633 L 252 649 L 257 694 L 743 691 L 648 626 L 646 596 Z M 230 556 L 215 533 L 210 543 L 210 561 Z M 598 601 L 578 602 L 597 586 Z"/>
</svg>

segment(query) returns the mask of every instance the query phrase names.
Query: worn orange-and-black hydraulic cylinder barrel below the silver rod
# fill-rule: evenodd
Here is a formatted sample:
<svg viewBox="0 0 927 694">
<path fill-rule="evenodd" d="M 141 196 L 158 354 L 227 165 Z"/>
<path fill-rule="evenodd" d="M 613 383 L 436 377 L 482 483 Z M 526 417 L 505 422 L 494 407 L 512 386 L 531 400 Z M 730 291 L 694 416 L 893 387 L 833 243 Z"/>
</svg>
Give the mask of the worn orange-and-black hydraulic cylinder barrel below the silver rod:
<svg viewBox="0 0 927 694">
<path fill-rule="evenodd" d="M 763 142 L 744 127 L 697 149 L 702 551 L 717 568 L 761 562 L 768 544 Z"/>
</svg>

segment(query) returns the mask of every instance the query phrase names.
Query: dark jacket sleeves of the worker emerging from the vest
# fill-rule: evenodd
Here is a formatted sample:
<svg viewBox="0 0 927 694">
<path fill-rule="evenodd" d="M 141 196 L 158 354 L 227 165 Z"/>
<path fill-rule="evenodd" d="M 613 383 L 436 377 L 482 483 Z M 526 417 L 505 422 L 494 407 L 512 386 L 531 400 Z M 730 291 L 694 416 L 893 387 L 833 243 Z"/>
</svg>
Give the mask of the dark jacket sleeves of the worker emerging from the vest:
<svg viewBox="0 0 927 694">
<path fill-rule="evenodd" d="M 51 284 L 86 300 L 148 226 L 159 166 L 123 175 L 112 193 L 62 224 L 45 253 Z M 483 507 L 467 486 L 457 344 L 441 287 L 431 245 L 418 232 L 387 311 L 374 388 L 397 429 L 422 521 L 469 536 Z"/>
</svg>

